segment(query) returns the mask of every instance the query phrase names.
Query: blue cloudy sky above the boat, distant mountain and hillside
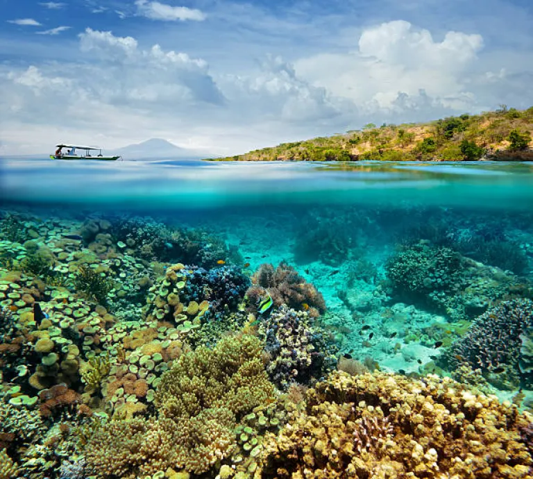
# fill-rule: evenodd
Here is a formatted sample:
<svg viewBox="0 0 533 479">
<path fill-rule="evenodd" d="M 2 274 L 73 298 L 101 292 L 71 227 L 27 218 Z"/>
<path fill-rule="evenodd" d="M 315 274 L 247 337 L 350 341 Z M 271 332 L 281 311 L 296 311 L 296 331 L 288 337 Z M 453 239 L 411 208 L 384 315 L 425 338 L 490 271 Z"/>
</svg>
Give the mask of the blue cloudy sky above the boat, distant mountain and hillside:
<svg viewBox="0 0 533 479">
<path fill-rule="evenodd" d="M 0 156 L 226 156 L 533 105 L 531 0 L 0 0 Z"/>
</svg>

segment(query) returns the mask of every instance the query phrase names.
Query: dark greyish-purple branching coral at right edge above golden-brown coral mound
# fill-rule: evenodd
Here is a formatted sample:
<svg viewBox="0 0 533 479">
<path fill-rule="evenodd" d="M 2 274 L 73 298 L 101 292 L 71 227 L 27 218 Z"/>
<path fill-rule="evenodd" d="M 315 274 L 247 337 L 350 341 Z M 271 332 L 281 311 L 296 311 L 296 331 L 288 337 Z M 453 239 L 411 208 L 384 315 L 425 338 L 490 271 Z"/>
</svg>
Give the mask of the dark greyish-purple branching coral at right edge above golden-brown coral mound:
<svg viewBox="0 0 533 479">
<path fill-rule="evenodd" d="M 532 326 L 533 301 L 503 301 L 475 319 L 466 335 L 452 343 L 446 361 L 452 369 L 462 362 L 481 369 L 490 383 L 516 385 L 521 373 L 521 335 Z M 522 373 L 525 380 L 531 379 L 527 369 Z"/>
</svg>

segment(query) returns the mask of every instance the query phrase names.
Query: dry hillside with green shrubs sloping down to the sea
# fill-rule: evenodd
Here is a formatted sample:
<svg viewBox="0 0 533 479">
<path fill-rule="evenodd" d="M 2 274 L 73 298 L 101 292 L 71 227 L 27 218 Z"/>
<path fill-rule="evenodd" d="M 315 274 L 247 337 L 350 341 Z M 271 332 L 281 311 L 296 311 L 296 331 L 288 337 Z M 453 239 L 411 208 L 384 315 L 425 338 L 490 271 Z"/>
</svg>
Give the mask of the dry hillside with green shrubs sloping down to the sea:
<svg viewBox="0 0 533 479">
<path fill-rule="evenodd" d="M 216 161 L 462 161 L 532 160 L 533 107 L 502 106 L 494 112 L 461 115 L 425 124 L 368 124 L 344 135 L 250 151 Z"/>
</svg>

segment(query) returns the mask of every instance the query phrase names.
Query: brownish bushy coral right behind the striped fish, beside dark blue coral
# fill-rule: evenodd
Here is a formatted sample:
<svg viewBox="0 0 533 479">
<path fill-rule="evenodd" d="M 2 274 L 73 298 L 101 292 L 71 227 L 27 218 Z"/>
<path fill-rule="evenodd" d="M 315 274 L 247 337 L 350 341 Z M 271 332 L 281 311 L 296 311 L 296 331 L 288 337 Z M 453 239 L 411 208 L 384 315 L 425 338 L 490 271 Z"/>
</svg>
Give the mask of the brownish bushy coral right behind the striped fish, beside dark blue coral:
<svg viewBox="0 0 533 479">
<path fill-rule="evenodd" d="M 281 262 L 276 269 L 272 264 L 264 263 L 252 276 L 255 286 L 248 289 L 246 296 L 251 303 L 264 294 L 257 287 L 269 292 L 274 305 L 287 305 L 294 310 L 307 310 L 313 317 L 325 312 L 325 301 L 311 283 L 302 278 L 296 269 L 285 262 Z M 253 304 L 256 306 L 256 304 Z"/>
</svg>

